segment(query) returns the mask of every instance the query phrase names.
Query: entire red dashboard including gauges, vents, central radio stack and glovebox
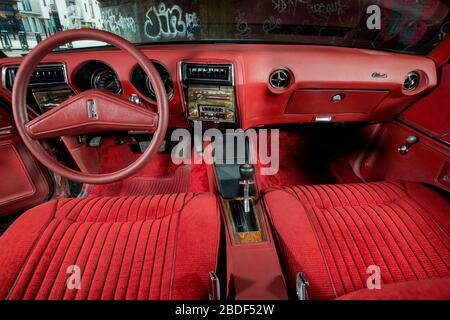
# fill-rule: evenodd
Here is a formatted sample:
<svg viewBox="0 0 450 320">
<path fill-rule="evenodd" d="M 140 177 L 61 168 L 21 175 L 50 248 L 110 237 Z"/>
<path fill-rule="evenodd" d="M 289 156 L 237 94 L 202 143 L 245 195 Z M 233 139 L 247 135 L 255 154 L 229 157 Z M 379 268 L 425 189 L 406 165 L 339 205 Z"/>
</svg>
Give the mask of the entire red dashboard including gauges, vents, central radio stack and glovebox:
<svg viewBox="0 0 450 320">
<path fill-rule="evenodd" d="M 194 121 L 247 129 L 304 122 L 389 121 L 436 85 L 431 59 L 356 48 L 263 44 L 143 46 L 161 76 L 171 127 Z M 0 97 L 11 99 L 22 58 L 0 61 Z M 33 74 L 37 113 L 89 89 L 137 97 L 154 109 L 147 75 L 114 48 L 54 53 Z"/>
</svg>

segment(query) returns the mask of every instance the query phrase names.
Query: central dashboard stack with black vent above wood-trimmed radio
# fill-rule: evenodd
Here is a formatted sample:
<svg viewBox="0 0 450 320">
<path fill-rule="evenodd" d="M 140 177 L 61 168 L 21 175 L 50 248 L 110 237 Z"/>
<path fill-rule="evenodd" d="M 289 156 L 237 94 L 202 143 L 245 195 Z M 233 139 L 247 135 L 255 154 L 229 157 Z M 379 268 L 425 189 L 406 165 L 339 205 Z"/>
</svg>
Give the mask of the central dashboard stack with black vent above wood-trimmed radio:
<svg viewBox="0 0 450 320">
<path fill-rule="evenodd" d="M 189 121 L 236 123 L 232 64 L 180 64 L 181 85 Z"/>
</svg>

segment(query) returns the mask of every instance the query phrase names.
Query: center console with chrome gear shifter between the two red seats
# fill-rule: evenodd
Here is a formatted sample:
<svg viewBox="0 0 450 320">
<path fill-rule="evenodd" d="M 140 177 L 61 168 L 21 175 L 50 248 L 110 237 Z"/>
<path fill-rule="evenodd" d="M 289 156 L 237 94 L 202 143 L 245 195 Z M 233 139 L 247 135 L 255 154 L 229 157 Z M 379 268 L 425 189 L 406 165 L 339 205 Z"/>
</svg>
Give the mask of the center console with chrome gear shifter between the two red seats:
<svg viewBox="0 0 450 320">
<path fill-rule="evenodd" d="M 231 132 L 233 131 L 233 132 Z M 287 299 L 286 282 L 274 237 L 256 185 L 254 140 L 238 130 L 226 130 L 211 141 L 214 150 L 221 143 L 224 152 L 213 156 L 213 175 L 221 203 L 227 256 L 226 288 L 230 300 Z M 245 152 L 236 152 L 231 141 L 247 141 Z"/>
</svg>

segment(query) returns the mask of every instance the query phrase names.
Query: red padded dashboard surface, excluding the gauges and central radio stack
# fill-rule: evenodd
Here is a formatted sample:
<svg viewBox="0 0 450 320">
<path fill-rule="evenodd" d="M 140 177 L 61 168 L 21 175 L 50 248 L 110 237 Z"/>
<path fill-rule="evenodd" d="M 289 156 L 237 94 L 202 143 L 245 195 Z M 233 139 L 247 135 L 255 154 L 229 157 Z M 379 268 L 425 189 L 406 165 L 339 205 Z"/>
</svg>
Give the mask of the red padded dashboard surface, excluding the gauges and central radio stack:
<svg viewBox="0 0 450 320">
<path fill-rule="evenodd" d="M 231 64 L 236 122 L 243 129 L 280 123 L 388 121 L 436 85 L 436 67 L 427 57 L 355 48 L 307 45 L 173 44 L 142 46 L 143 52 L 170 74 L 170 126 L 185 127 L 186 98 L 181 63 Z M 22 58 L 2 59 L 2 70 Z M 108 65 L 120 80 L 121 94 L 154 102 L 131 83 L 136 62 L 114 48 L 55 53 L 42 63 L 63 64 L 67 82 L 89 61 Z M 418 83 L 404 86 L 413 72 Z M 4 73 L 4 72 L 3 72 Z M 278 85 L 281 84 L 281 85 Z M 11 92 L 4 86 L 0 96 Z"/>
</svg>

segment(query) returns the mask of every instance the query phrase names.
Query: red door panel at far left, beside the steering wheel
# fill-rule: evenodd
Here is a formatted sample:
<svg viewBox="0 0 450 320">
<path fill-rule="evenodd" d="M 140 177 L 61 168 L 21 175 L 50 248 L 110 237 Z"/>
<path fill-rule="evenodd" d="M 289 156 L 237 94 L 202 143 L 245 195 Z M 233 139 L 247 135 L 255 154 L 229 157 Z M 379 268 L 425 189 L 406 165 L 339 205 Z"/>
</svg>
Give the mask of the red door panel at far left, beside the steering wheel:
<svg viewBox="0 0 450 320">
<path fill-rule="evenodd" d="M 50 194 L 47 172 L 36 162 L 0 109 L 0 216 L 31 208 Z"/>
</svg>

